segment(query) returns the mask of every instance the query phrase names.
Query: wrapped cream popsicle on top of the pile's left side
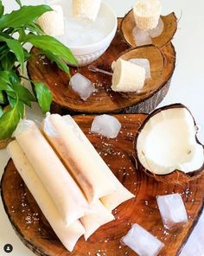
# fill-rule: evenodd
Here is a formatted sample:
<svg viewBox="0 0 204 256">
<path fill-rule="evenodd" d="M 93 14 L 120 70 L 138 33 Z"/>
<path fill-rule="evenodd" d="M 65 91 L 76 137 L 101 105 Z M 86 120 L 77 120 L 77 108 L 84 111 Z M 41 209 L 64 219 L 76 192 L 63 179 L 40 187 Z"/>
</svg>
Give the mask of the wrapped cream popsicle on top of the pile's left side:
<svg viewBox="0 0 204 256">
<path fill-rule="evenodd" d="M 22 120 L 15 136 L 65 223 L 82 217 L 88 210 L 86 198 L 35 123 Z"/>
</svg>

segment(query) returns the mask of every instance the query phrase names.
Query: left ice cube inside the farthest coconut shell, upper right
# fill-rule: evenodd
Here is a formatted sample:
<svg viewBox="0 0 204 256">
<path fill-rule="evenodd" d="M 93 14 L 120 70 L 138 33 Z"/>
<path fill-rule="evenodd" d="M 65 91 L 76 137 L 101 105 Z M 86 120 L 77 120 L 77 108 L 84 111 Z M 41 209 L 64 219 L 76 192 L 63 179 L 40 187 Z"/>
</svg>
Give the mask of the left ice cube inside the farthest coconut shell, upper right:
<svg viewBox="0 0 204 256">
<path fill-rule="evenodd" d="M 136 46 L 142 46 L 146 44 L 152 44 L 152 40 L 147 30 L 140 30 L 137 27 L 132 29 L 132 35 L 134 37 Z"/>
</svg>

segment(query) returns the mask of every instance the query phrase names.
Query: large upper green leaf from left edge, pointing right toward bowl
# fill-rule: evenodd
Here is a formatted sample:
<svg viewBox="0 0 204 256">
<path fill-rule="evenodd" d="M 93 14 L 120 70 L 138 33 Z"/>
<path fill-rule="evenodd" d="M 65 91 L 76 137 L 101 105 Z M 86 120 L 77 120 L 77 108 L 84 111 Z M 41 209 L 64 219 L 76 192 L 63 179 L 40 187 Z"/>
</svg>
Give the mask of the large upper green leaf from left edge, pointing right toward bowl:
<svg viewBox="0 0 204 256">
<path fill-rule="evenodd" d="M 10 14 L 0 18 L 0 29 L 19 28 L 34 22 L 43 13 L 52 10 L 48 5 L 22 6 L 20 10 L 13 10 Z"/>
</svg>

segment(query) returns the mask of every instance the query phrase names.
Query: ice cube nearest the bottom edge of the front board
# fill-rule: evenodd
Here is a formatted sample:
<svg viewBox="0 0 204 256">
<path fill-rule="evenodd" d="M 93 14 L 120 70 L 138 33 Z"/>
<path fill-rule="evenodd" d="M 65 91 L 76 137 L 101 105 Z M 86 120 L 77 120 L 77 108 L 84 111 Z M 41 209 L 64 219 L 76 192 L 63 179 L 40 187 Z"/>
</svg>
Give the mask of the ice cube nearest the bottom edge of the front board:
<svg viewBox="0 0 204 256">
<path fill-rule="evenodd" d="M 156 256 L 163 248 L 163 243 L 143 227 L 134 224 L 121 243 L 129 246 L 139 256 Z"/>
</svg>

